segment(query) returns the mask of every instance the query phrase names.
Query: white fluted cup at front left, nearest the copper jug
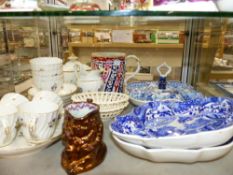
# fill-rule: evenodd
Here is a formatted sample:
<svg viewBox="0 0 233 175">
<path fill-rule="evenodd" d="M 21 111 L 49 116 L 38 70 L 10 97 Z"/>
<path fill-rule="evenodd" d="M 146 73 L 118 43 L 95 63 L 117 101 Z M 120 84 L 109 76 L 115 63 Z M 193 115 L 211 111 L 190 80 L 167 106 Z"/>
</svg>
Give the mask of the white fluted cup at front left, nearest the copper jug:
<svg viewBox="0 0 233 175">
<path fill-rule="evenodd" d="M 22 132 L 30 143 L 46 142 L 57 126 L 58 105 L 47 100 L 24 103 L 18 107 Z"/>
</svg>

